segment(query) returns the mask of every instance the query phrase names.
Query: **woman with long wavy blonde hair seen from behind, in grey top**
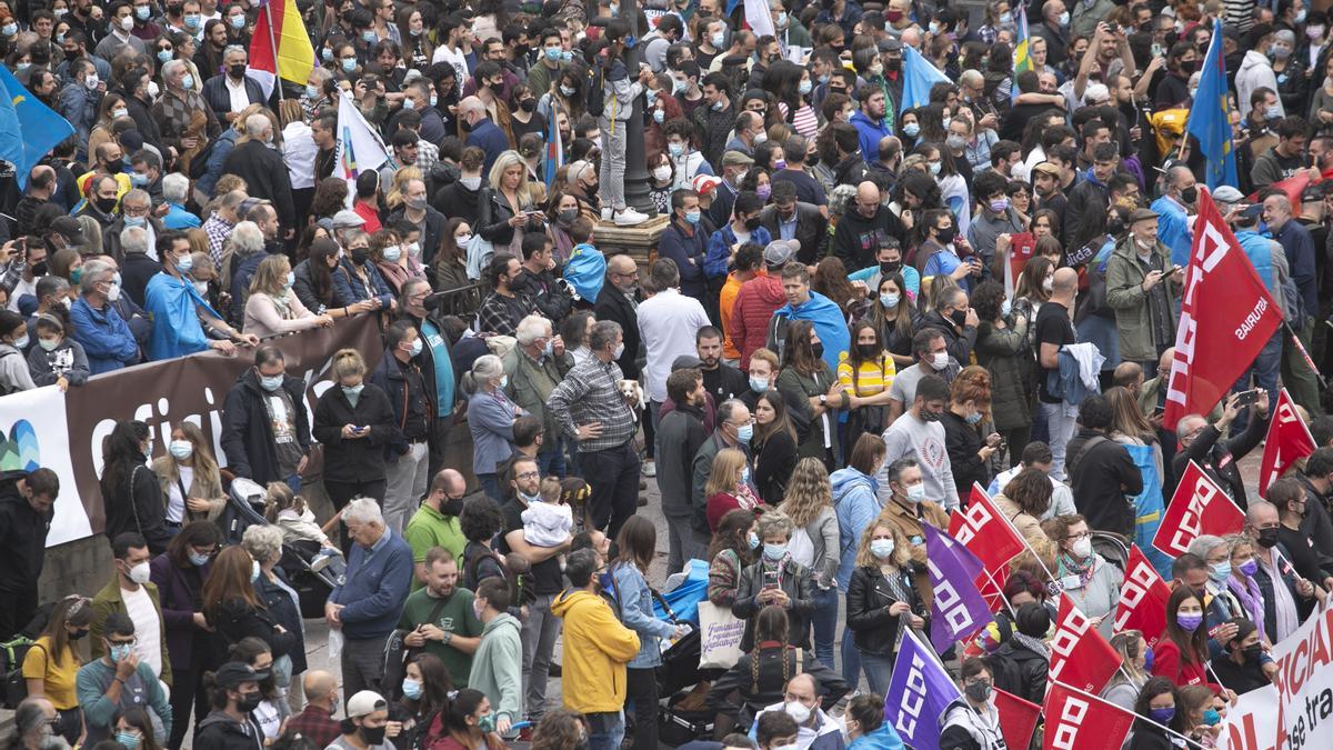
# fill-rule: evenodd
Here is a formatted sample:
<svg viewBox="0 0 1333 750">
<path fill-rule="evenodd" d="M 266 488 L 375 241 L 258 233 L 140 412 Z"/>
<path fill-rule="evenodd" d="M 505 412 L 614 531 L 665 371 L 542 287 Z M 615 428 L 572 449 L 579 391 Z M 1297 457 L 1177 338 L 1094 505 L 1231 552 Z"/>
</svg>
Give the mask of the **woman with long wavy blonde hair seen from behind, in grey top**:
<svg viewBox="0 0 1333 750">
<path fill-rule="evenodd" d="M 780 510 L 796 527 L 786 547 L 788 554 L 810 569 L 814 579 L 814 655 L 825 665 L 832 665 L 833 639 L 837 635 L 837 566 L 841 550 L 837 515 L 833 512 L 833 490 L 824 462 L 817 458 L 796 462 Z"/>
</svg>

